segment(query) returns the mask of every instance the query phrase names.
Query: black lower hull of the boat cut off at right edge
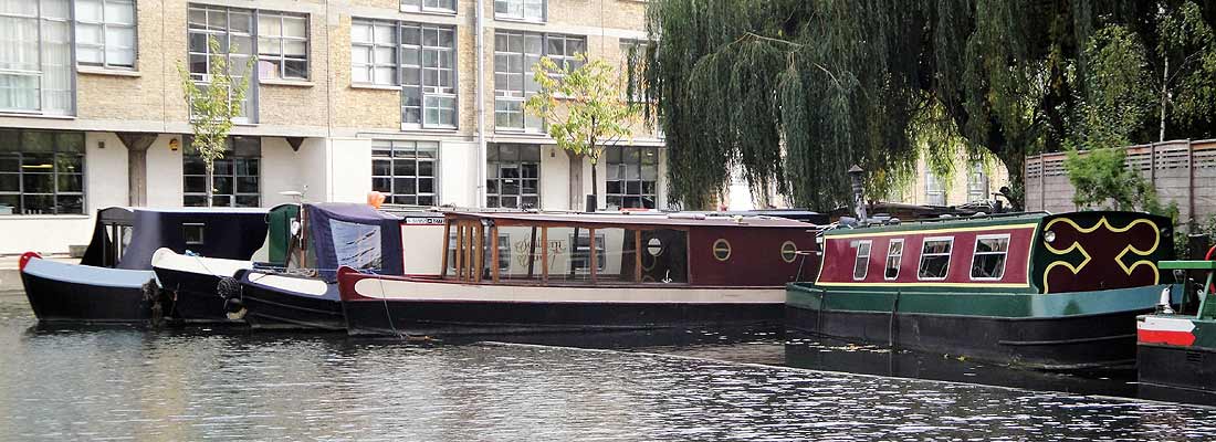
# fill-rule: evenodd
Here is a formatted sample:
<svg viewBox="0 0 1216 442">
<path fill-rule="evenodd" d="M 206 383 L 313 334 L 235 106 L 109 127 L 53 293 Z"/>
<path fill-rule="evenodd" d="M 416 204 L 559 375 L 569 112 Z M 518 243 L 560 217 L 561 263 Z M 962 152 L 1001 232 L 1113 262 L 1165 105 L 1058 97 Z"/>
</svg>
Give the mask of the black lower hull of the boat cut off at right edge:
<svg viewBox="0 0 1216 442">
<path fill-rule="evenodd" d="M 1141 384 L 1216 393 L 1216 350 L 1141 344 L 1137 351 Z"/>
</svg>

